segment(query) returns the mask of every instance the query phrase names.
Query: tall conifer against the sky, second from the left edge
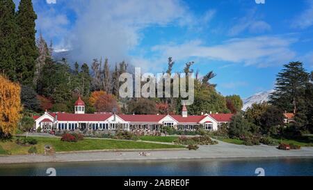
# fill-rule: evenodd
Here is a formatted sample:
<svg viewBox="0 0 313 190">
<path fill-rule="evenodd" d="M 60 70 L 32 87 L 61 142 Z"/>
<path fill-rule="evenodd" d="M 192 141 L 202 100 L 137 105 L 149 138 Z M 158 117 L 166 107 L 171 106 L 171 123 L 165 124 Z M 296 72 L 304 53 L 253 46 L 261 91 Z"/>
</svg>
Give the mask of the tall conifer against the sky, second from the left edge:
<svg viewBox="0 0 313 190">
<path fill-rule="evenodd" d="M 18 51 L 17 51 L 17 79 L 26 85 L 33 84 L 35 73 L 35 60 L 38 49 L 35 45 L 35 19 L 37 15 L 33 10 L 31 0 L 21 0 L 17 11 Z"/>
</svg>

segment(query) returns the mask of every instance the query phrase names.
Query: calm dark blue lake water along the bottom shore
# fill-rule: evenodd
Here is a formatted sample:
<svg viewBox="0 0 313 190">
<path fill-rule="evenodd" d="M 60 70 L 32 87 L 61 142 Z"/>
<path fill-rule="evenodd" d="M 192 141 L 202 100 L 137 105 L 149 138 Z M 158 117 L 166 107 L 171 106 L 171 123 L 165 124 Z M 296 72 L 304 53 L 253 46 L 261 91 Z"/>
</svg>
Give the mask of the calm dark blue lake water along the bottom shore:
<svg viewBox="0 0 313 190">
<path fill-rule="evenodd" d="M 313 158 L 197 159 L 172 161 L 94 161 L 0 165 L 0 175 L 313 175 Z"/>
</svg>

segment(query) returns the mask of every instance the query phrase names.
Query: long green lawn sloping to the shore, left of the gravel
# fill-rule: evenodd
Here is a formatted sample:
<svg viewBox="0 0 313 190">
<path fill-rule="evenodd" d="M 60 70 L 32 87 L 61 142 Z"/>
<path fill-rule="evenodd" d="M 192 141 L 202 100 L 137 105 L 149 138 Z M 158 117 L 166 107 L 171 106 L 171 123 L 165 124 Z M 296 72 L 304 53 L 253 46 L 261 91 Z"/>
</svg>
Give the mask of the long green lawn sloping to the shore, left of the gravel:
<svg viewBox="0 0 313 190">
<path fill-rule="evenodd" d="M 85 138 L 78 142 L 63 142 L 60 138 L 34 137 L 38 140 L 35 147 L 42 154 L 45 145 L 52 145 L 56 152 L 79 151 L 79 150 L 125 150 L 125 149 L 159 149 L 159 148 L 184 148 L 182 145 L 165 145 L 159 143 L 145 143 L 136 141 L 119 141 L 110 139 Z M 22 146 L 12 141 L 1 142 L 3 150 L 10 151 L 11 155 L 26 155 L 31 146 Z"/>
</svg>

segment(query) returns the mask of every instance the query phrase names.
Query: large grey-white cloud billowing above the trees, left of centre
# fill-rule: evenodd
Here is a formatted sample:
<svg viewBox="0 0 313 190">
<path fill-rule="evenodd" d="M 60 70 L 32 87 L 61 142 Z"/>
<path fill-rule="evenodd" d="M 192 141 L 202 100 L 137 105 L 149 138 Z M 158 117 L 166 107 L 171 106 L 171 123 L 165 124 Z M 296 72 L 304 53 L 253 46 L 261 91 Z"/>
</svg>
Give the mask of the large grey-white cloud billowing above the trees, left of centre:
<svg viewBox="0 0 313 190">
<path fill-rule="evenodd" d="M 129 50 L 143 38 L 147 26 L 192 22 L 181 1 L 71 1 L 77 20 L 68 42 L 75 60 L 90 62 L 107 56 L 109 60 L 130 59 Z M 188 19 L 189 18 L 189 19 Z"/>
</svg>

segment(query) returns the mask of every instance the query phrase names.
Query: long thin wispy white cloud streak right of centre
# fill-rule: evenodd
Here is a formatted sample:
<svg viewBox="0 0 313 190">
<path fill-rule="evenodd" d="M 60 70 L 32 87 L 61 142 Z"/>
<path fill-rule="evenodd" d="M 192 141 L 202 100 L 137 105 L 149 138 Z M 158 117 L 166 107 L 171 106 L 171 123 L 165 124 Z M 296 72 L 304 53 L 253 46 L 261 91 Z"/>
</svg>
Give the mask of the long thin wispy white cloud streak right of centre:
<svg viewBox="0 0 313 190">
<path fill-rule="evenodd" d="M 214 46 L 205 46 L 201 40 L 193 40 L 181 45 L 157 45 L 152 47 L 152 51 L 158 52 L 161 57 L 172 56 L 176 60 L 200 57 L 268 67 L 286 63 L 294 58 L 296 53 L 289 47 L 294 42 L 296 42 L 295 38 L 285 36 L 282 38 L 275 36 L 233 38 Z"/>
</svg>

